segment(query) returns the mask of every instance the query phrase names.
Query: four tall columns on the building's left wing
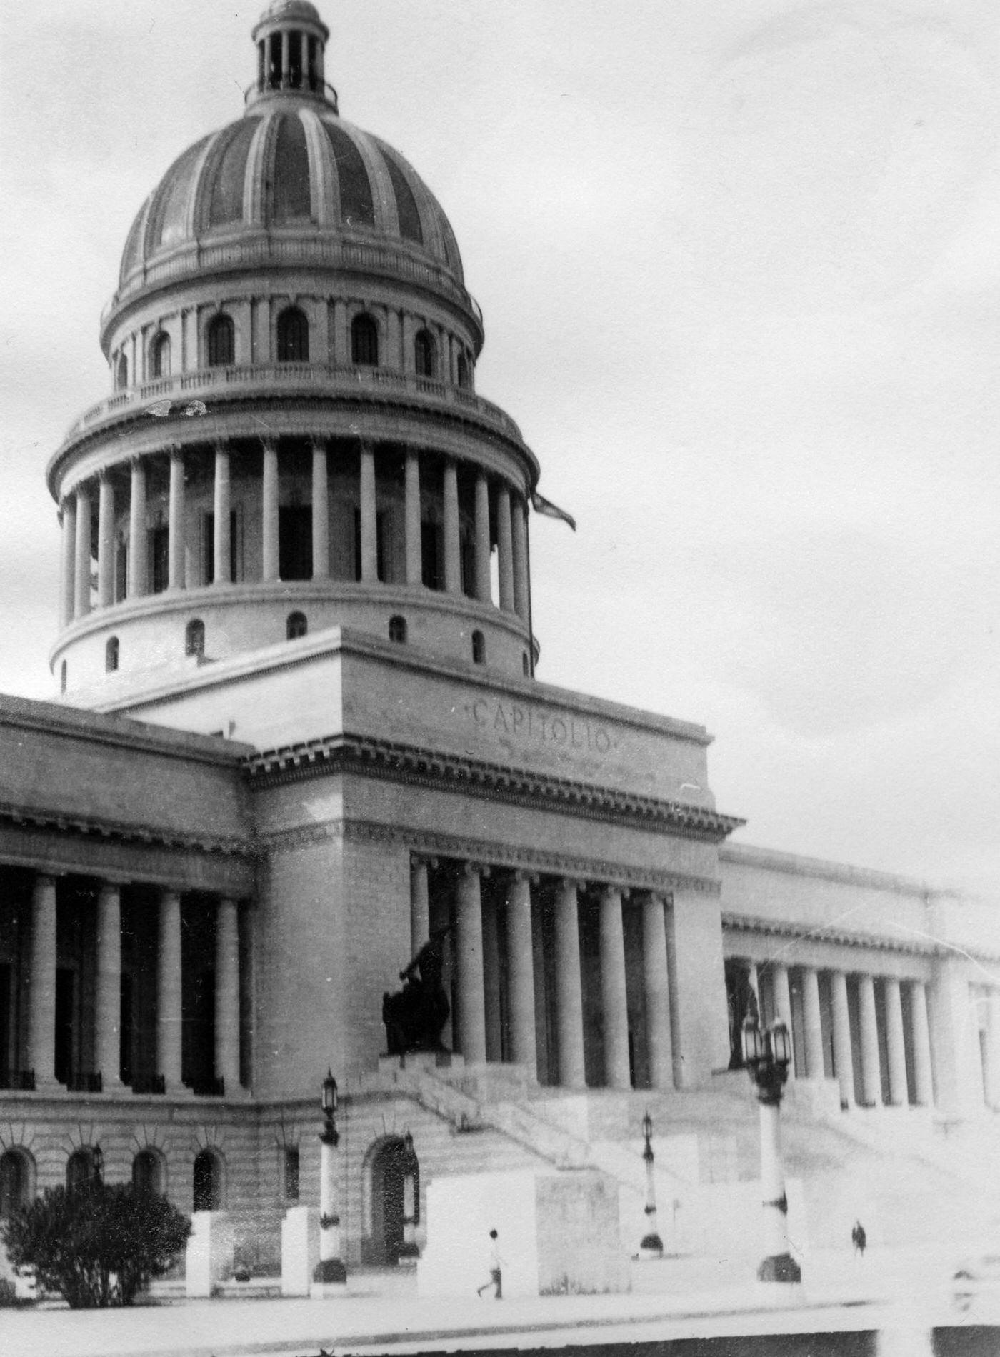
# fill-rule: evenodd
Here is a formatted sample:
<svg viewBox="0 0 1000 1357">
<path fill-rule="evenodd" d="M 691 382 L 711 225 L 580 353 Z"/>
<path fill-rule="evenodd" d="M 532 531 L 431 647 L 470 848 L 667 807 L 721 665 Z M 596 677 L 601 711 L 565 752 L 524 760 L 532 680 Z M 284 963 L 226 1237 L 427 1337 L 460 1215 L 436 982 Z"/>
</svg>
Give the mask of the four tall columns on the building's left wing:
<svg viewBox="0 0 1000 1357">
<path fill-rule="evenodd" d="M 237 905 L 216 904 L 214 1072 L 228 1091 L 240 1083 L 240 961 Z M 95 1064 L 104 1092 L 121 1090 L 121 886 L 98 890 Z M 35 1087 L 56 1083 L 56 878 L 35 877 L 31 894 L 28 1064 Z M 164 890 L 159 902 L 156 961 L 156 1069 L 167 1092 L 182 1088 L 180 896 Z"/>
</svg>

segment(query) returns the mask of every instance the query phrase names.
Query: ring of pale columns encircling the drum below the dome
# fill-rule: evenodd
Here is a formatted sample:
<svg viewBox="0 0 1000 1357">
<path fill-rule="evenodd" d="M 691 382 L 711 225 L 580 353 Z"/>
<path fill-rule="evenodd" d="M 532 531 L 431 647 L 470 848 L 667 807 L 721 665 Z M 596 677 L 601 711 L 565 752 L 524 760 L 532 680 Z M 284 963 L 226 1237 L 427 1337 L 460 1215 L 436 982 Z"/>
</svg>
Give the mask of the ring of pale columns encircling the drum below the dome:
<svg viewBox="0 0 1000 1357">
<path fill-rule="evenodd" d="M 328 453 L 322 440 L 312 442 L 312 577 L 330 575 L 330 480 Z M 361 579 L 379 578 L 376 452 L 370 442 L 361 444 L 360 456 L 361 505 Z M 62 626 L 84 617 L 91 609 L 91 502 L 92 484 L 84 482 L 62 502 Z M 495 478 L 498 607 L 528 622 L 528 522 L 524 498 Z M 491 603 L 491 536 L 490 536 L 491 478 L 483 470 L 475 478 L 475 575 L 474 596 Z M 459 514 L 459 468 L 453 459 L 444 464 L 444 588 L 445 593 L 461 593 L 461 539 Z M 404 558 L 406 584 L 418 586 L 423 578 L 422 518 L 421 518 L 421 457 L 415 448 L 406 452 L 404 476 Z M 231 573 L 231 453 L 227 444 L 216 445 L 213 478 L 212 543 L 214 584 L 232 582 Z M 280 578 L 280 461 L 278 445 L 263 441 L 262 475 L 262 577 Z M 115 588 L 115 494 L 109 472 L 98 478 L 98 605 L 114 603 Z M 168 588 L 185 588 L 185 459 L 180 448 L 170 452 L 168 493 Z M 144 459 L 132 460 L 129 499 L 129 555 L 126 596 L 140 598 L 149 592 L 147 562 L 147 465 Z"/>
</svg>

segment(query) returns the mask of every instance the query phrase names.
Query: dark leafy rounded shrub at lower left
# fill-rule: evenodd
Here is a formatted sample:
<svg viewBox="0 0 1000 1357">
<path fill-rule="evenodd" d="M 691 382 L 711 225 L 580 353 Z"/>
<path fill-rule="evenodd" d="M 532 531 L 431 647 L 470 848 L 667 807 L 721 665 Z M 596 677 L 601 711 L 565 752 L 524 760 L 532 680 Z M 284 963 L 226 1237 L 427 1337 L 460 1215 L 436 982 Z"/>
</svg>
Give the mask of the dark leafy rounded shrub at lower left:
<svg viewBox="0 0 1000 1357">
<path fill-rule="evenodd" d="M 185 1247 L 191 1223 L 156 1193 L 91 1182 L 50 1187 L 3 1227 L 15 1267 L 34 1267 L 38 1284 L 73 1310 L 130 1305 Z"/>
</svg>

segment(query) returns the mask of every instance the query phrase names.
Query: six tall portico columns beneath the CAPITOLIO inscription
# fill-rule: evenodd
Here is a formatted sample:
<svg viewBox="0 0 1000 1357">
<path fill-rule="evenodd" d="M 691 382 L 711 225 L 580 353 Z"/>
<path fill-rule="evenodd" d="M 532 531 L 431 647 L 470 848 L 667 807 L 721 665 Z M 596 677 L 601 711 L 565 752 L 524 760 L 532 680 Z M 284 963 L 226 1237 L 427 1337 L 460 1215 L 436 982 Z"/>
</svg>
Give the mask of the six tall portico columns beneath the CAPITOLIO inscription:
<svg viewBox="0 0 1000 1357">
<path fill-rule="evenodd" d="M 456 892 L 455 963 L 456 1008 L 453 1034 L 469 1063 L 487 1058 L 487 1004 L 498 977 L 497 940 L 490 938 L 495 915 L 482 908 L 484 868 L 464 863 Z M 536 878 L 514 871 L 506 887 L 506 950 L 509 972 L 510 1056 L 514 1064 L 537 1069 L 535 1027 L 535 947 L 532 934 L 532 883 Z M 429 935 L 427 864 L 414 858 L 410 868 L 411 928 L 414 950 Z M 559 1083 L 567 1088 L 586 1084 L 583 1057 L 583 992 L 579 959 L 578 897 L 581 882 L 563 878 L 555 897 L 555 1011 Z M 613 885 L 600 892 L 600 972 L 604 1018 L 604 1071 L 611 1088 L 630 1088 L 628 1007 L 626 947 L 621 915 L 623 892 Z M 666 954 L 664 897 L 642 896 L 643 989 L 646 1000 L 646 1048 L 653 1088 L 673 1087 L 670 987 Z M 494 1000 L 495 1001 L 495 1000 Z"/>
</svg>

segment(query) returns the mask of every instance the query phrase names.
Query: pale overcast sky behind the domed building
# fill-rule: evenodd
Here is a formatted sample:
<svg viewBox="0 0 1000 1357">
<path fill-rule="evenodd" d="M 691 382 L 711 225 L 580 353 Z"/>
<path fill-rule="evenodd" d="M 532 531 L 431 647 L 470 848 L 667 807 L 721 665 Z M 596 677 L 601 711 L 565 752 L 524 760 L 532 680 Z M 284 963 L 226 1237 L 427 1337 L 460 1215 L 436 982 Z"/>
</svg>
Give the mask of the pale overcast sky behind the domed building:
<svg viewBox="0 0 1000 1357">
<path fill-rule="evenodd" d="M 5 9 L 0 691 L 53 693 L 43 468 L 261 8 Z M 342 114 L 456 229 L 479 392 L 579 522 L 532 524 L 539 677 L 707 725 L 741 840 L 1000 883 L 996 4 L 320 11 Z"/>
</svg>

